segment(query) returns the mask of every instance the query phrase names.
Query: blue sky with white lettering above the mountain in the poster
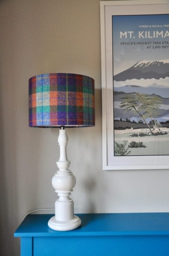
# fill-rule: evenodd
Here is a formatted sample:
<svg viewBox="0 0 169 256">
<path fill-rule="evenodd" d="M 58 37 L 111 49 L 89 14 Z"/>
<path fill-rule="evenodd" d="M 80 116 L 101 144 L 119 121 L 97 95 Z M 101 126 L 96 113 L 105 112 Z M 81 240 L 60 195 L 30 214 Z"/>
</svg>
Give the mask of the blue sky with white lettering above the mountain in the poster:
<svg viewBox="0 0 169 256">
<path fill-rule="evenodd" d="M 112 16 L 114 74 L 140 60 L 169 59 L 169 14 Z"/>
</svg>

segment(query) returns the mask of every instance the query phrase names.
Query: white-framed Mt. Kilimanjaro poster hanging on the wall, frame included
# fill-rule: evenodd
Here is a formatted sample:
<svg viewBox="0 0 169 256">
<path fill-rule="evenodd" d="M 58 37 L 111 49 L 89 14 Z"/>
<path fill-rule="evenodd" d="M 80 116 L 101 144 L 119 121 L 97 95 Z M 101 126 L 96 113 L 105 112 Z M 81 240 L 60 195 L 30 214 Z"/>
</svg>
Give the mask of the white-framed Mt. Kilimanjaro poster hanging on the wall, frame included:
<svg viewBox="0 0 169 256">
<path fill-rule="evenodd" d="M 101 1 L 103 170 L 169 169 L 169 1 Z"/>
</svg>

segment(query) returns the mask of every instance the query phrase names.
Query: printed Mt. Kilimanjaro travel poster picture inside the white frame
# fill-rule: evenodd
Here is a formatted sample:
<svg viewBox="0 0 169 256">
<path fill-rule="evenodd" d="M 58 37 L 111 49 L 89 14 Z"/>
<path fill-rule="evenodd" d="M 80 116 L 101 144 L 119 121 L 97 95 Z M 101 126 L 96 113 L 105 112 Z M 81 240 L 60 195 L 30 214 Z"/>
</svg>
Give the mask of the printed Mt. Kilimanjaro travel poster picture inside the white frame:
<svg viewBox="0 0 169 256">
<path fill-rule="evenodd" d="M 169 14 L 113 15 L 115 156 L 169 155 Z"/>
</svg>

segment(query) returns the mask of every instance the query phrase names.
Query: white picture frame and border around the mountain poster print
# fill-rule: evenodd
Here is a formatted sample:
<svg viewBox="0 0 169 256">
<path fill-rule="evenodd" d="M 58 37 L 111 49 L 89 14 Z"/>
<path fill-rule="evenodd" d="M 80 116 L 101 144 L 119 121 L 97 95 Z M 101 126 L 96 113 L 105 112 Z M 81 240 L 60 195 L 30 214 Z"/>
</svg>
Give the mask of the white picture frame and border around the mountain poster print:
<svg viewBox="0 0 169 256">
<path fill-rule="evenodd" d="M 159 15 L 169 13 L 169 1 L 128 0 L 100 2 L 101 64 L 102 64 L 102 143 L 103 170 L 169 169 L 167 155 L 114 156 L 113 117 L 113 24 L 112 16 Z M 169 24 L 166 20 L 165 24 Z M 143 24 L 144 25 L 144 24 Z M 145 24 L 146 25 L 146 24 Z M 149 24 L 150 25 L 150 24 Z M 149 26 L 147 24 L 147 26 Z M 158 24 L 154 24 L 158 25 Z M 169 28 L 168 28 L 169 29 Z M 127 30 L 125 30 L 127 31 Z M 131 30 L 122 36 L 131 36 Z M 143 34 L 141 34 L 143 36 Z M 168 40 L 168 37 L 167 37 Z M 169 58 L 169 57 L 168 57 Z M 169 148 L 169 144 L 168 144 Z"/>
</svg>

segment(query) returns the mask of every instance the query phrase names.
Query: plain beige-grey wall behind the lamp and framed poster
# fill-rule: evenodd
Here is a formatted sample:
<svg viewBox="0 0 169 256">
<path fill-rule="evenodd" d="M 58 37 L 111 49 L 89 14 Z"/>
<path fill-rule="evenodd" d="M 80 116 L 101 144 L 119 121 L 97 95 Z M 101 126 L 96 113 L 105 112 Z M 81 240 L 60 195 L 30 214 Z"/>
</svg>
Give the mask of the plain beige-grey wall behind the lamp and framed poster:
<svg viewBox="0 0 169 256">
<path fill-rule="evenodd" d="M 23 216 L 54 208 L 58 129 L 28 127 L 28 79 L 95 79 L 96 126 L 67 129 L 76 213 L 167 212 L 168 170 L 103 171 L 99 0 L 0 1 L 0 255 L 19 255 Z"/>
</svg>

